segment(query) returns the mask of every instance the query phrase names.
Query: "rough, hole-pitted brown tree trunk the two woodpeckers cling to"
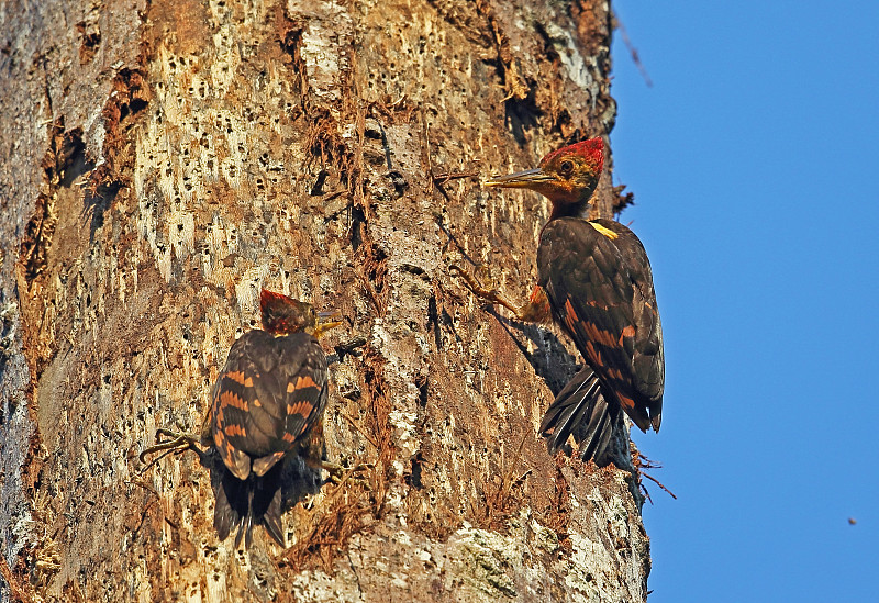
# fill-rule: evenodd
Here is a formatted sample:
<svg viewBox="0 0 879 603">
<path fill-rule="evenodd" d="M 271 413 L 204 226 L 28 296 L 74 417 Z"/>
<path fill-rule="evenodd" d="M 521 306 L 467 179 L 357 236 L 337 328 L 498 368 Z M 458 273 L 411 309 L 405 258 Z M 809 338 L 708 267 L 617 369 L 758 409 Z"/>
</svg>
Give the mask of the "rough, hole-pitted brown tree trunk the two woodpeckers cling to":
<svg viewBox="0 0 879 603">
<path fill-rule="evenodd" d="M 628 473 L 535 436 L 570 344 L 448 272 L 531 289 L 548 208 L 476 175 L 610 131 L 609 11 L 2 2 L 3 596 L 645 600 Z M 616 201 L 605 175 L 598 212 Z M 366 337 L 332 366 L 324 433 L 375 467 L 291 495 L 291 547 L 258 531 L 244 554 L 196 455 L 137 455 L 199 429 L 260 286 L 342 310 L 327 350 Z"/>
</svg>

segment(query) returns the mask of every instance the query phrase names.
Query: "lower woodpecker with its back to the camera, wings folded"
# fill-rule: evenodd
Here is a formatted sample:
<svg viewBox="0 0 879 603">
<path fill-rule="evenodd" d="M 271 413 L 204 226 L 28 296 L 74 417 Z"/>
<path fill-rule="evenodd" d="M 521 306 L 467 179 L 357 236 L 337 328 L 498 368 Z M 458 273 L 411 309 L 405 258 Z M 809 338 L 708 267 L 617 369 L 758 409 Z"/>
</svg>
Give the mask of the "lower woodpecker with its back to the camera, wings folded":
<svg viewBox="0 0 879 603">
<path fill-rule="evenodd" d="M 259 306 L 263 328 L 245 333 L 229 350 L 205 425 L 222 459 L 214 527 L 221 540 L 236 529 L 235 546 L 244 536 L 247 548 L 260 523 L 286 546 L 281 460 L 307 456 L 310 439 L 321 432 L 327 371 L 318 339 L 341 324 L 331 320 L 336 313 L 316 313 L 266 289 Z"/>
</svg>

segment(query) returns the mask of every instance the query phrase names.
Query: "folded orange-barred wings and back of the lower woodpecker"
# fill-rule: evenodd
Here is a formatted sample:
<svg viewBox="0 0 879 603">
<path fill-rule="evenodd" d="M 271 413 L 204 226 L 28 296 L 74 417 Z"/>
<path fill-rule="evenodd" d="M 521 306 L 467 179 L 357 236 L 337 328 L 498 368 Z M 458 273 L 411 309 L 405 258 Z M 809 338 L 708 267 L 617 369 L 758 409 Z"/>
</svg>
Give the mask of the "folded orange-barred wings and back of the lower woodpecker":
<svg viewBox="0 0 879 603">
<path fill-rule="evenodd" d="M 211 427 L 238 479 L 263 476 L 323 415 L 326 357 L 314 337 L 254 330 L 232 346 L 214 387 Z"/>
</svg>

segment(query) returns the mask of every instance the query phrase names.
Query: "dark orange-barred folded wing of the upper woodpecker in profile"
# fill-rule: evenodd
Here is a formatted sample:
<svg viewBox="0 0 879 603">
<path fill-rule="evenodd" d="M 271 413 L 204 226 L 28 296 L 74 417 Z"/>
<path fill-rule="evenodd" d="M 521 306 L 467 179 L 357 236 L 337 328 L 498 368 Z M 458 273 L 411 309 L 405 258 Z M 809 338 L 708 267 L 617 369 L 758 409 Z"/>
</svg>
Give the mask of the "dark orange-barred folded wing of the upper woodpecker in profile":
<svg viewBox="0 0 879 603">
<path fill-rule="evenodd" d="M 641 429 L 658 431 L 663 328 L 641 241 L 612 220 L 554 220 L 541 236 L 537 267 L 554 317 L 587 364 Z"/>
</svg>

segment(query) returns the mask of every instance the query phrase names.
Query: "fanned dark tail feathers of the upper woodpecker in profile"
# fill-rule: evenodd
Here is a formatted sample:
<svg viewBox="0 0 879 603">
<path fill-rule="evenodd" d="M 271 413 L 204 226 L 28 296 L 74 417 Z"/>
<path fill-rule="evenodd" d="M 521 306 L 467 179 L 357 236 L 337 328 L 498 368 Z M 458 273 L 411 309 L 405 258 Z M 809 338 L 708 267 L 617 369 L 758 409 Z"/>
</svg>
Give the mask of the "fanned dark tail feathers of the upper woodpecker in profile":
<svg viewBox="0 0 879 603">
<path fill-rule="evenodd" d="M 546 438 L 550 454 L 561 448 L 568 436 L 574 435 L 583 460 L 594 459 L 597 465 L 607 465 L 611 460 L 609 445 L 616 414 L 619 407 L 608 405 L 598 376 L 585 366 L 546 411 L 541 423 L 541 435 Z"/>
</svg>

